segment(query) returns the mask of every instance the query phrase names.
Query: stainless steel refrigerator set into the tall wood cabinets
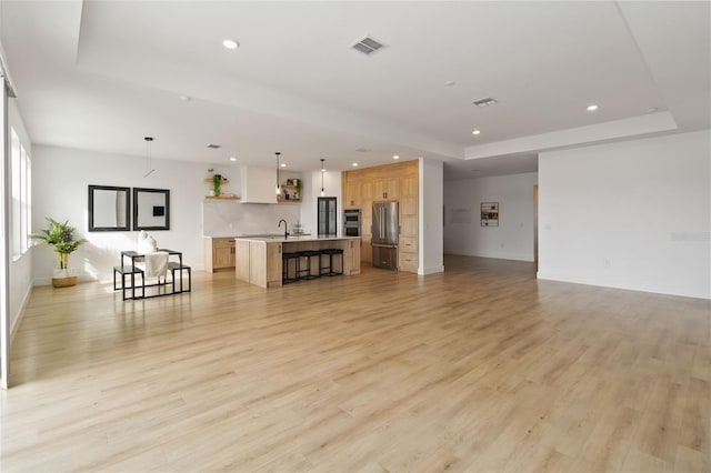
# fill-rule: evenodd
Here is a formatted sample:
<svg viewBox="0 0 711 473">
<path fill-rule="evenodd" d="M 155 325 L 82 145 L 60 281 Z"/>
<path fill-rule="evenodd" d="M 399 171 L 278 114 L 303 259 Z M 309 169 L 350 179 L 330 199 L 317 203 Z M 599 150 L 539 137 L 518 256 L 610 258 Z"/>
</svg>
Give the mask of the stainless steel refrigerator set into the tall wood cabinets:
<svg viewBox="0 0 711 473">
<path fill-rule="evenodd" d="M 398 269 L 398 202 L 373 202 L 373 266 Z"/>
</svg>

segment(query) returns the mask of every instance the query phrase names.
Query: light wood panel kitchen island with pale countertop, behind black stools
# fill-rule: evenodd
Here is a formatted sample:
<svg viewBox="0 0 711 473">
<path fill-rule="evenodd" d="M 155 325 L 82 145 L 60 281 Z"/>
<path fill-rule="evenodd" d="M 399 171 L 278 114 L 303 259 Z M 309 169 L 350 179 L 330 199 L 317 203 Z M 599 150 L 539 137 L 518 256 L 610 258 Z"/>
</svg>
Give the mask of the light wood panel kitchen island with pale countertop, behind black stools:
<svg viewBox="0 0 711 473">
<path fill-rule="evenodd" d="M 237 265 L 240 281 L 261 288 L 281 285 L 281 254 L 308 250 L 343 250 L 343 275 L 360 274 L 360 238 L 358 236 L 267 236 L 236 238 Z M 324 256 L 322 256 L 324 258 Z M 316 259 L 313 263 L 316 264 Z M 336 259 L 333 264 L 338 266 Z M 318 269 L 314 271 L 318 272 Z"/>
</svg>

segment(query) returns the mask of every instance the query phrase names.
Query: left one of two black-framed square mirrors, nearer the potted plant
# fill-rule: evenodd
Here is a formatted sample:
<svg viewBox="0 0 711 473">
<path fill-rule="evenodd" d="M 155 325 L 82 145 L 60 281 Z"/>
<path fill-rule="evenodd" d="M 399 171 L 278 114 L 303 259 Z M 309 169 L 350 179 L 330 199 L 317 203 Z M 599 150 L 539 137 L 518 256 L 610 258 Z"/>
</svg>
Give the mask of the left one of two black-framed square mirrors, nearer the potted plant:
<svg viewBox="0 0 711 473">
<path fill-rule="evenodd" d="M 131 230 L 131 188 L 89 185 L 89 231 Z"/>
</svg>

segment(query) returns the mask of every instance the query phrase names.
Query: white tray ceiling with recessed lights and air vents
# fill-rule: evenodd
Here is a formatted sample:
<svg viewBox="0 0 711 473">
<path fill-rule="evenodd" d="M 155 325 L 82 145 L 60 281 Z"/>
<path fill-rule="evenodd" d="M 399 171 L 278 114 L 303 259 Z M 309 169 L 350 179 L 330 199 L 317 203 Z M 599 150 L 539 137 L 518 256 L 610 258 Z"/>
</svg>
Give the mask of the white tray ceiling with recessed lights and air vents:
<svg viewBox="0 0 711 473">
<path fill-rule="evenodd" d="M 674 1 L 2 1 L 0 41 L 34 143 L 144 155 L 152 135 L 157 159 L 281 151 L 297 171 L 427 157 L 458 179 L 709 128 L 710 17 Z M 387 47 L 350 48 L 365 36 Z"/>
</svg>

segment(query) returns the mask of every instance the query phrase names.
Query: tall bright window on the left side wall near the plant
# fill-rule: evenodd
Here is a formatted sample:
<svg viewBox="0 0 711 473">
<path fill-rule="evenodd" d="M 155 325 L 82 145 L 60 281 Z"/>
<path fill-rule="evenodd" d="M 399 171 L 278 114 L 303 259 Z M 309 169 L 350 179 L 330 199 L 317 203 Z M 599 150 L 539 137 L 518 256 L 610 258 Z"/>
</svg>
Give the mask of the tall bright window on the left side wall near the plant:
<svg viewBox="0 0 711 473">
<path fill-rule="evenodd" d="M 12 167 L 12 207 L 10 240 L 12 242 L 12 256 L 17 260 L 29 248 L 29 234 L 31 232 L 31 164 L 30 155 L 20 142 L 14 129 L 10 129 L 11 135 L 11 167 Z"/>
</svg>

